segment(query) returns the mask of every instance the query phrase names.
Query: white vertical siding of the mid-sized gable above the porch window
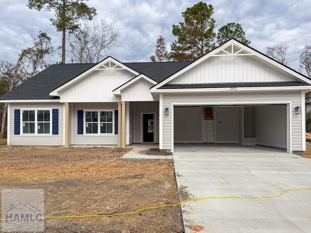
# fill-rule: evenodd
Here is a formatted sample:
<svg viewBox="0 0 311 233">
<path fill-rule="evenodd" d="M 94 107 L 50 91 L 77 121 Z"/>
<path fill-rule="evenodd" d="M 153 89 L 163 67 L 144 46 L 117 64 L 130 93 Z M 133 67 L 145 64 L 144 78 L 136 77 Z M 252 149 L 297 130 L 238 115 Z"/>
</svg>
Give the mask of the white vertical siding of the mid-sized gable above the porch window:
<svg viewBox="0 0 311 233">
<path fill-rule="evenodd" d="M 135 75 L 127 70 L 96 70 L 60 93 L 61 102 L 117 102 L 112 91 Z"/>
</svg>

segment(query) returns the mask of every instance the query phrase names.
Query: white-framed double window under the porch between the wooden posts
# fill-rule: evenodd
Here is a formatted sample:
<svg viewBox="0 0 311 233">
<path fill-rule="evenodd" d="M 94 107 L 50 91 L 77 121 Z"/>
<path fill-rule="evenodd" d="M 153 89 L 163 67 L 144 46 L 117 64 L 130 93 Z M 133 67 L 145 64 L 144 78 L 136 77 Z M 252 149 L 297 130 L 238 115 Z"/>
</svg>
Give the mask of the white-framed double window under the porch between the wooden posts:
<svg viewBox="0 0 311 233">
<path fill-rule="evenodd" d="M 114 110 L 85 110 L 85 133 L 113 133 Z"/>
</svg>

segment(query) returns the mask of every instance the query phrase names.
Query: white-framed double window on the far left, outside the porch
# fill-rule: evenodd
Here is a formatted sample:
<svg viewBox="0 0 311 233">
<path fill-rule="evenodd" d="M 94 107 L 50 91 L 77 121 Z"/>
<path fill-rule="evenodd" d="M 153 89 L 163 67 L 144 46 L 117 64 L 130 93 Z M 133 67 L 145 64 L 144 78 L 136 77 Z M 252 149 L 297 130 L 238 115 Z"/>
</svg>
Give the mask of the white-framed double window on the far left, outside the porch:
<svg viewBox="0 0 311 233">
<path fill-rule="evenodd" d="M 22 134 L 50 134 L 51 110 L 22 110 Z"/>
</svg>

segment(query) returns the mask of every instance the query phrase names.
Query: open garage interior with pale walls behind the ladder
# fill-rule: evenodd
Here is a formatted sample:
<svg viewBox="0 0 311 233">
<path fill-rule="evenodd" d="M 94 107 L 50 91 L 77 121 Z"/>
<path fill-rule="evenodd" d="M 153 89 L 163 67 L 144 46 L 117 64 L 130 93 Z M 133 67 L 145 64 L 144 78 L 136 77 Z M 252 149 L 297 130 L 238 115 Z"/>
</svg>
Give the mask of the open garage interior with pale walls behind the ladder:
<svg viewBox="0 0 311 233">
<path fill-rule="evenodd" d="M 174 143 L 204 143 L 208 138 L 205 108 L 212 109 L 215 143 L 288 147 L 287 105 L 175 106 Z"/>
</svg>

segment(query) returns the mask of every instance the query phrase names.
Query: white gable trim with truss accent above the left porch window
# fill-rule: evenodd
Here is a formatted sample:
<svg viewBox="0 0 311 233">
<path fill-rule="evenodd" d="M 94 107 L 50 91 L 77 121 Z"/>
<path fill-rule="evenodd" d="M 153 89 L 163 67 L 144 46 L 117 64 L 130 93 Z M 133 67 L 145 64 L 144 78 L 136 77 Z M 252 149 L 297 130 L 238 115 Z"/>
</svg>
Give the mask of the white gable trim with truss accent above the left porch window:
<svg viewBox="0 0 311 233">
<path fill-rule="evenodd" d="M 69 86 L 73 85 L 74 83 L 79 82 L 81 79 L 85 78 L 88 74 L 94 72 L 95 70 L 103 70 L 103 69 L 125 69 L 129 72 L 138 75 L 139 73 L 135 71 L 134 69 L 131 69 L 130 67 L 125 66 L 118 60 L 114 59 L 113 57 L 107 57 L 103 61 L 99 62 L 95 66 L 89 68 L 82 74 L 78 75 L 77 77 L 71 79 L 69 82 L 61 85 L 60 87 L 57 87 L 56 89 L 52 90 L 50 92 L 50 96 L 59 96 L 59 93 L 65 89 L 67 89 Z"/>
</svg>

